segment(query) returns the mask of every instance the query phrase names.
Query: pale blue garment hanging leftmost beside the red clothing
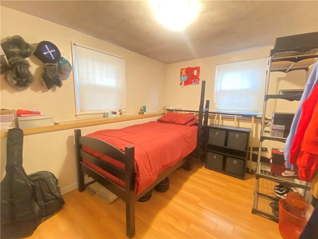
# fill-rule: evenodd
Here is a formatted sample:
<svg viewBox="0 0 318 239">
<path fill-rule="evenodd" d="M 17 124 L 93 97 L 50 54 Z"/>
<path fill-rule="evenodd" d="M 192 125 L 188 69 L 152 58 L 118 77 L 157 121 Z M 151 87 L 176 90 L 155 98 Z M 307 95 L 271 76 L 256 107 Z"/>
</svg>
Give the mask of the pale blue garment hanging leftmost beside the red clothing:
<svg viewBox="0 0 318 239">
<path fill-rule="evenodd" d="M 308 96 L 311 94 L 313 88 L 315 85 L 317 85 L 318 82 L 318 61 L 316 62 L 316 65 L 314 66 L 314 69 L 310 75 L 310 77 L 308 78 L 308 81 L 305 85 L 305 89 L 304 89 L 304 93 L 301 97 L 300 100 L 300 104 L 298 106 L 298 109 L 295 113 L 291 128 L 290 128 L 290 132 L 289 135 L 286 139 L 286 143 L 285 143 L 285 149 L 284 149 L 284 155 L 285 155 L 285 161 L 286 161 L 286 168 L 291 168 L 292 165 L 289 162 L 289 152 L 290 152 L 290 148 L 298 127 L 298 122 L 300 119 L 300 116 L 302 114 L 302 104 L 304 103 L 304 101 L 308 98 Z"/>
</svg>

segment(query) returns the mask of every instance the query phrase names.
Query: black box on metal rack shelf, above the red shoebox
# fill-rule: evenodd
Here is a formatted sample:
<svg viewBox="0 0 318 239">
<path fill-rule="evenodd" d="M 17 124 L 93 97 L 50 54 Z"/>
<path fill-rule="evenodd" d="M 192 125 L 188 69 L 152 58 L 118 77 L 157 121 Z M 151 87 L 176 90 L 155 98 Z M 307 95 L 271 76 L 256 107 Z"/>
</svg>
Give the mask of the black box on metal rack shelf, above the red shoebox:
<svg viewBox="0 0 318 239">
<path fill-rule="evenodd" d="M 270 136 L 287 138 L 294 116 L 294 113 L 273 112 Z"/>
</svg>

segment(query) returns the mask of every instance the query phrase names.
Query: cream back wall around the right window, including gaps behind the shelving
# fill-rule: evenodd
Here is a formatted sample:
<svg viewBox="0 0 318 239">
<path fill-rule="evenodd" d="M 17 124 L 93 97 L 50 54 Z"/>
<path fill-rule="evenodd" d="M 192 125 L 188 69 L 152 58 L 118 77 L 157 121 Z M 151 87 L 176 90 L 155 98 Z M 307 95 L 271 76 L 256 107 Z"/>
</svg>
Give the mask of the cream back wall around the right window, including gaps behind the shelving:
<svg viewBox="0 0 318 239">
<path fill-rule="evenodd" d="M 210 111 L 213 111 L 215 109 L 214 84 L 216 65 L 266 58 L 269 56 L 271 49 L 273 49 L 273 46 L 255 48 L 167 65 L 165 105 L 181 107 L 182 109 L 198 109 L 201 84 L 199 86 L 189 85 L 182 88 L 179 86 L 179 75 L 181 68 L 200 66 L 200 81 L 206 81 L 205 99 L 210 100 Z M 281 72 L 272 72 L 269 85 L 269 94 L 278 94 L 279 89 L 303 89 L 306 84 L 306 76 L 307 74 L 304 70 L 293 71 L 287 74 Z M 272 112 L 296 112 L 298 105 L 299 102 L 270 100 L 270 102 L 267 104 L 268 107 L 266 111 L 266 117 L 271 118 Z M 234 125 L 234 121 L 224 120 L 222 123 L 225 125 L 251 127 L 251 124 L 246 122 L 239 122 L 237 125 Z M 252 136 L 253 147 L 258 147 L 259 134 L 260 125 L 255 123 Z M 271 147 L 284 147 L 284 144 L 266 140 L 262 146 L 268 147 L 270 150 Z M 270 152 L 263 153 L 263 156 L 270 157 Z"/>
</svg>

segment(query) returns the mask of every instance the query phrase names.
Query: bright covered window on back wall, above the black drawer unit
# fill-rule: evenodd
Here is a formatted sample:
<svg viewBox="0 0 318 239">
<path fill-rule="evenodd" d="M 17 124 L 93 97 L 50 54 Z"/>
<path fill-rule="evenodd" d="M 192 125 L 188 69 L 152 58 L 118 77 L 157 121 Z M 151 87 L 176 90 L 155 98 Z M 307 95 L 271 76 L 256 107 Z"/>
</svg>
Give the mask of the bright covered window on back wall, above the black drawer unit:
<svg viewBox="0 0 318 239">
<path fill-rule="evenodd" d="M 266 67 L 267 58 L 217 65 L 215 111 L 261 114 Z"/>
</svg>

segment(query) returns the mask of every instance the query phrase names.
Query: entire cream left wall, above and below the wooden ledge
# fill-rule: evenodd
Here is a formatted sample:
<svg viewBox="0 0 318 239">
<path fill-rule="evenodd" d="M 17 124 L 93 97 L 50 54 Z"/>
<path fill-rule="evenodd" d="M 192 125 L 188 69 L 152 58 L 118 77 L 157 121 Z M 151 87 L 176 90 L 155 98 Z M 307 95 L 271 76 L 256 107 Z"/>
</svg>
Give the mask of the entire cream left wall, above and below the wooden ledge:
<svg viewBox="0 0 318 239">
<path fill-rule="evenodd" d="M 53 42 L 62 56 L 72 63 L 71 41 L 98 48 L 126 59 L 126 99 L 128 114 L 138 114 L 140 106 L 147 112 L 158 112 L 165 99 L 165 64 L 115 46 L 79 31 L 49 22 L 10 8 L 0 7 L 1 43 L 13 35 L 22 36 L 36 47 L 43 40 Z M 27 58 L 34 82 L 30 88 L 17 91 L 1 75 L 1 108 L 37 110 L 54 116 L 55 121 L 76 119 L 73 74 L 61 88 L 48 90 L 41 82 L 44 64 L 35 56 Z M 157 118 L 138 119 L 82 128 L 82 134 L 104 128 L 120 128 Z M 5 175 L 6 138 L 0 138 L 0 176 Z M 25 135 L 23 142 L 23 167 L 27 174 L 40 170 L 54 173 L 59 179 L 62 193 L 77 188 L 75 145 L 73 129 Z"/>
</svg>

